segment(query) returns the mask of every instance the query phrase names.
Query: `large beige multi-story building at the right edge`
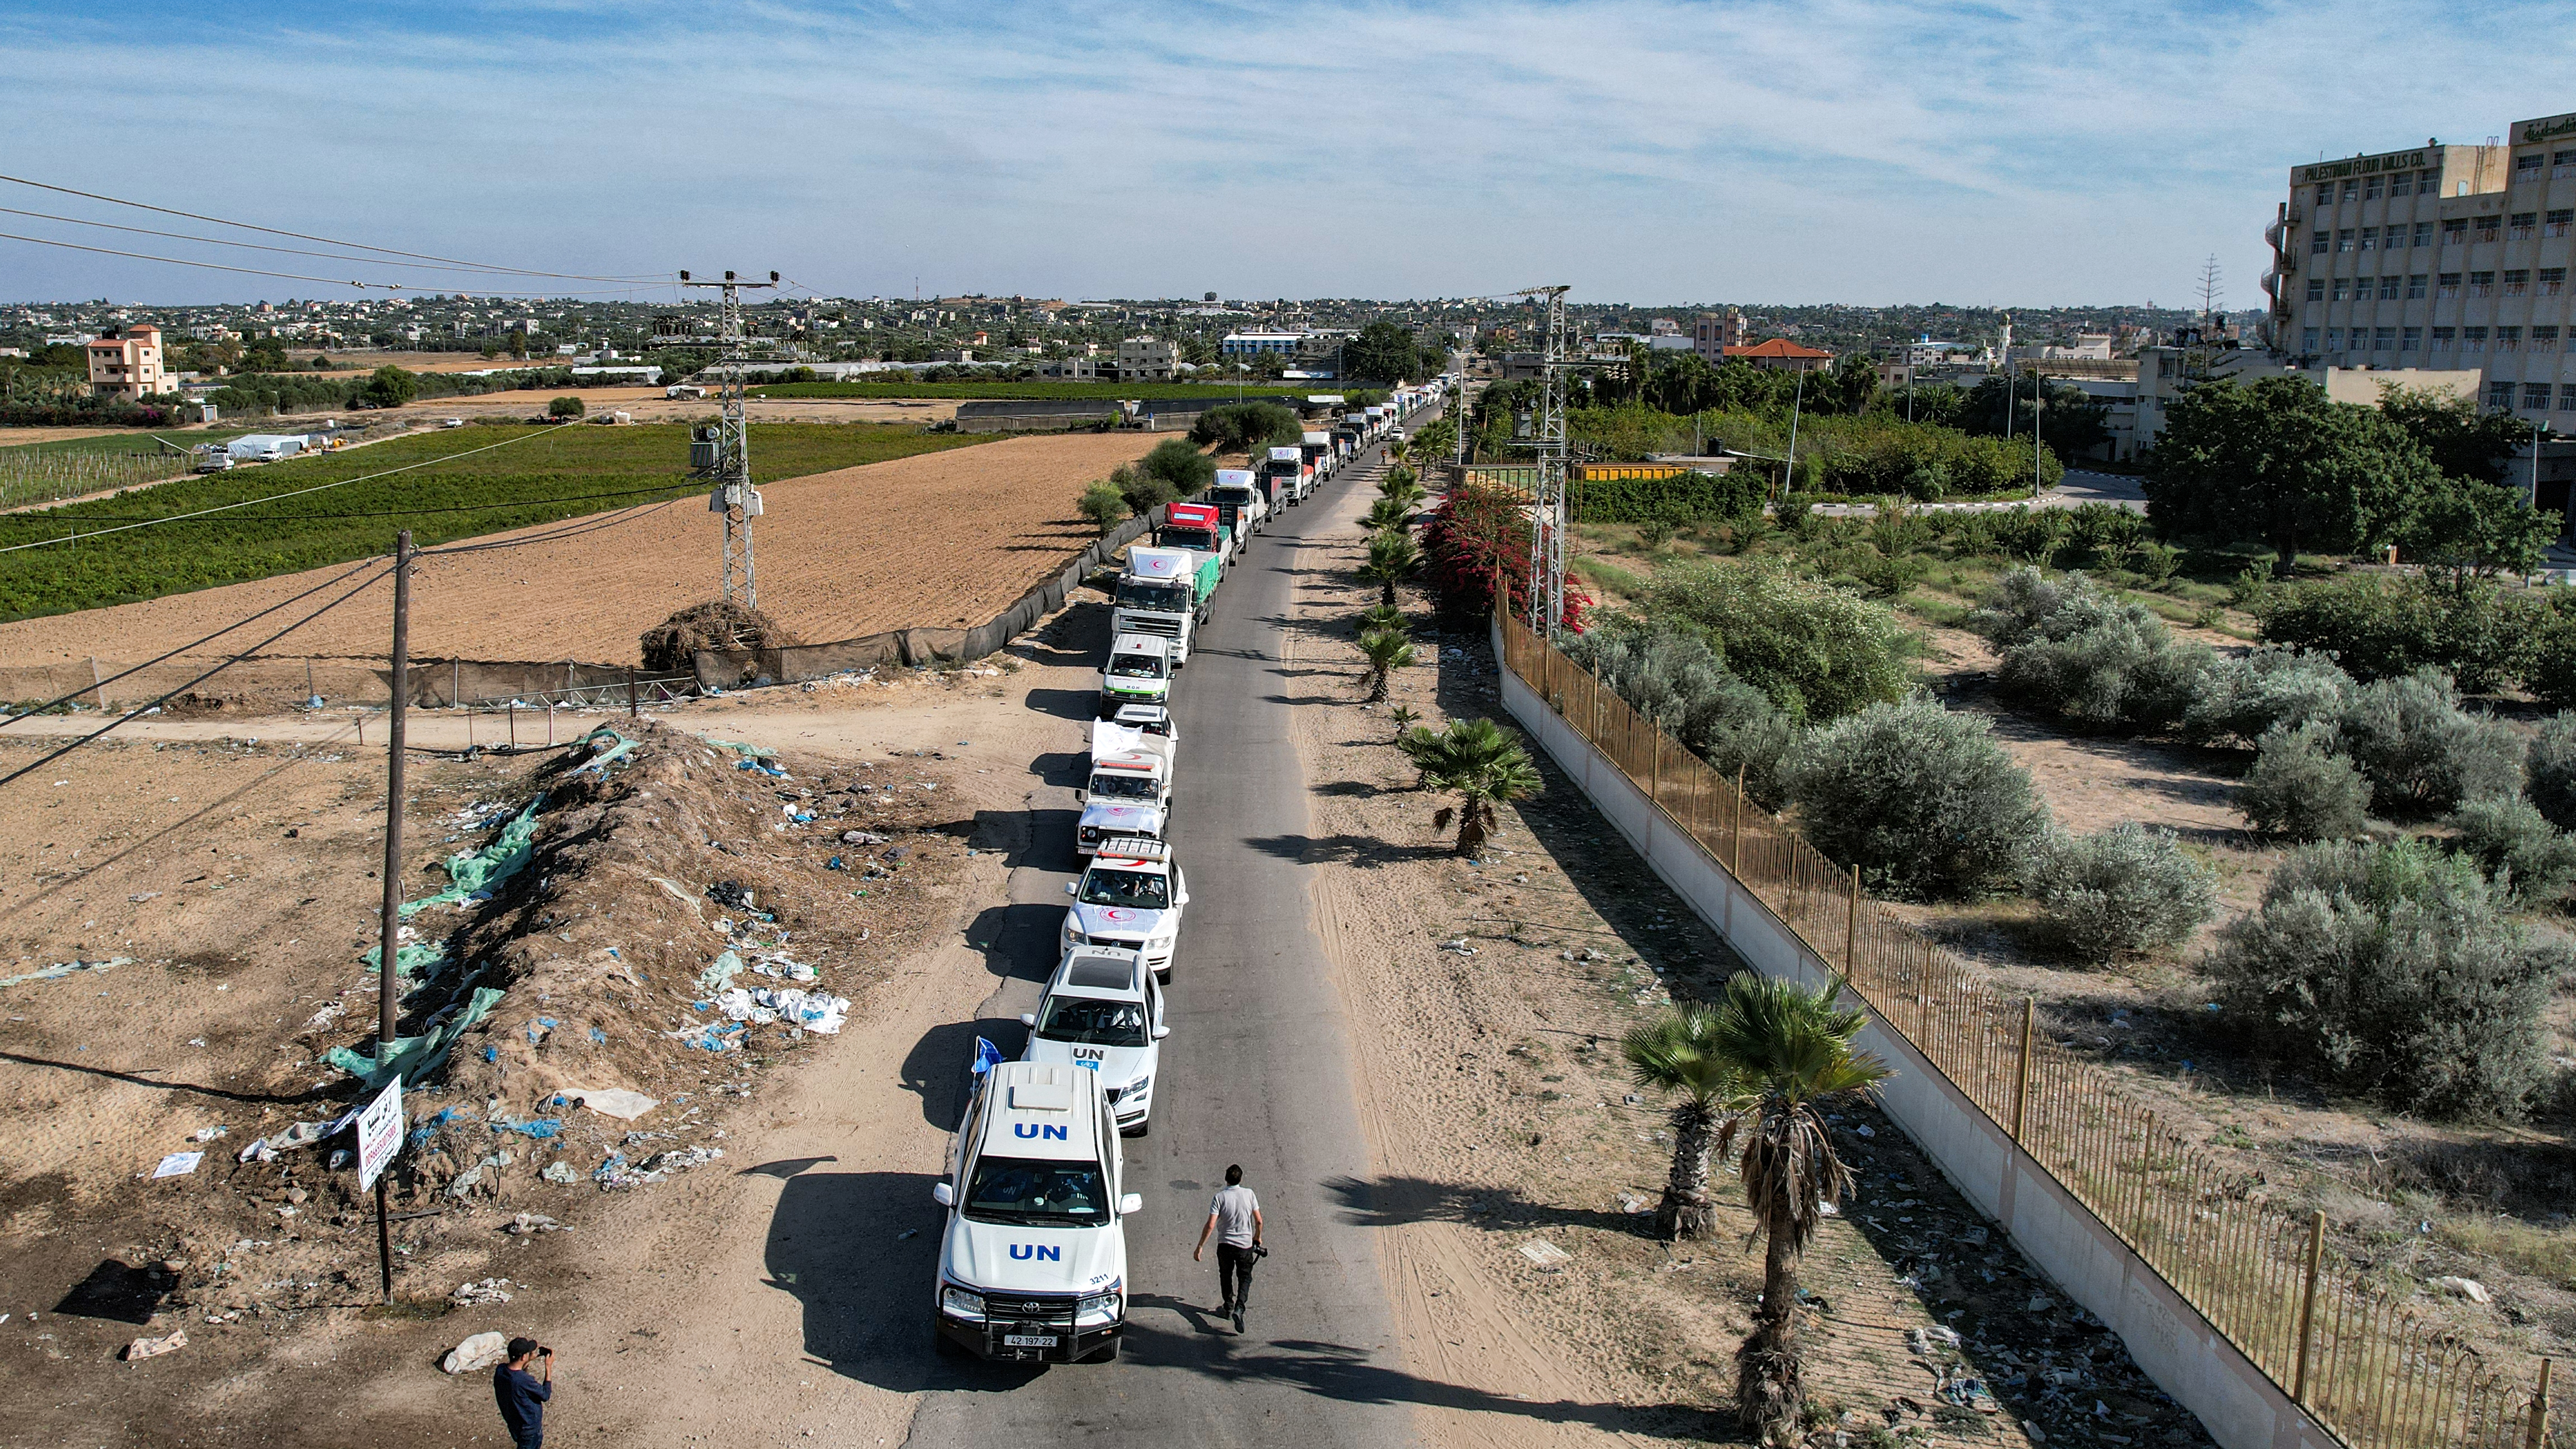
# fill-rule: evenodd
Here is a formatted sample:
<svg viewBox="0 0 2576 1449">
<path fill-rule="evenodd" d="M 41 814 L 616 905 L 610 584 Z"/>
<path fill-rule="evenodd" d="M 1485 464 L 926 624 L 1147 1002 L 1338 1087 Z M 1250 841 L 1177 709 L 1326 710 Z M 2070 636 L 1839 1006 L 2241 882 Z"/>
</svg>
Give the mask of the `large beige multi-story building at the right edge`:
<svg viewBox="0 0 2576 1449">
<path fill-rule="evenodd" d="M 2476 371 L 2486 407 L 2576 428 L 2576 113 L 2295 165 L 2267 237 L 2293 366 Z"/>
</svg>

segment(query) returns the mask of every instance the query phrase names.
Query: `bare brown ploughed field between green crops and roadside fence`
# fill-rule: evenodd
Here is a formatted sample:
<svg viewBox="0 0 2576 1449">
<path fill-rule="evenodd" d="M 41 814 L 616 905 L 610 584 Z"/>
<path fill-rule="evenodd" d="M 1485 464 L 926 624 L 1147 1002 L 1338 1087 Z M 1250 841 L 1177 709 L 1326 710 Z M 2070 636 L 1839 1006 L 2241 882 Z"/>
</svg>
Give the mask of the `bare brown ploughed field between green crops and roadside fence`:
<svg viewBox="0 0 2576 1449">
<path fill-rule="evenodd" d="M 1092 536 L 1072 511 L 1082 482 L 1154 441 L 1151 433 L 1010 438 L 773 482 L 762 487 L 768 513 L 755 531 L 760 606 L 811 642 L 981 624 Z M 719 544 L 721 523 L 690 498 L 572 539 L 422 559 L 412 578 L 412 655 L 639 663 L 644 629 L 716 593 Z M 90 655 L 139 663 L 340 572 L 0 624 L 0 665 Z M 392 588 L 368 590 L 273 652 L 384 657 L 392 608 Z"/>
</svg>

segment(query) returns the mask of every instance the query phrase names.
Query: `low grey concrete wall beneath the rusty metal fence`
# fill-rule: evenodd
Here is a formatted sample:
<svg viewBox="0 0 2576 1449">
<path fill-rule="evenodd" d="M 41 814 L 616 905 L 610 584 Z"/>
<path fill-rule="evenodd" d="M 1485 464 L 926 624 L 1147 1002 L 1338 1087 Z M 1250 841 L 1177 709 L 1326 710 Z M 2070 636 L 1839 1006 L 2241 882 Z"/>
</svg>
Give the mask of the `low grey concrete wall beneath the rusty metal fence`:
<svg viewBox="0 0 2576 1449">
<path fill-rule="evenodd" d="M 1502 639 L 1494 639 L 1502 657 Z M 1826 980 L 1826 964 L 1762 900 L 1592 748 L 1510 668 L 1499 668 L 1502 706 L 1522 724 L 1613 828 L 1703 920 L 1767 977 Z M 2190 1408 L 2223 1449 L 2334 1449 L 2290 1395 L 2226 1341 L 2128 1243 L 2105 1227 L 2053 1176 L 2020 1152 L 2012 1134 L 1873 1013 L 1862 1047 L 1896 1075 L 1880 1088 L 1888 1116 L 2066 1297 L 2102 1318 L 2156 1385 Z"/>
</svg>

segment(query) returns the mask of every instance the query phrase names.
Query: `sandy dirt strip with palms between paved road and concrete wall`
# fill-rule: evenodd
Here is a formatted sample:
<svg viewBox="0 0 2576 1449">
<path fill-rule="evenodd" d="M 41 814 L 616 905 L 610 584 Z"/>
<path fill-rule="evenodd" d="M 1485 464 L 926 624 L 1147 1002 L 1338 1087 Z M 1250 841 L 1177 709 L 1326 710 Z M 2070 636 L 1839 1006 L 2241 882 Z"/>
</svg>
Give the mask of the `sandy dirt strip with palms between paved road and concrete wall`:
<svg viewBox="0 0 2576 1449">
<path fill-rule="evenodd" d="M 1383 1227 L 1419 1372 L 1530 1403 L 1425 1421 L 1437 1444 L 1476 1449 L 1736 1439 L 1734 1346 L 1762 1289 L 1749 1214 L 1721 1171 L 1713 1240 L 1651 1238 L 1669 1132 L 1618 1057 L 1628 1026 L 1705 998 L 1736 962 L 1553 766 L 1481 861 L 1448 853 L 1386 706 L 1358 704 L 1360 557 L 1358 531 L 1306 552 L 1293 632 L 1314 691 L 1352 701 L 1298 714 L 1316 915 L 1363 1029 L 1381 1163 L 1350 1212 Z M 1481 637 L 1422 629 L 1417 647 L 1391 704 L 1432 727 L 1499 717 Z M 1803 1274 L 1824 1444 L 2038 1444 L 2102 1428 L 2097 1400 L 2117 1441 L 2205 1444 L 1875 1109 L 1842 1132 L 1862 1189 Z"/>
</svg>

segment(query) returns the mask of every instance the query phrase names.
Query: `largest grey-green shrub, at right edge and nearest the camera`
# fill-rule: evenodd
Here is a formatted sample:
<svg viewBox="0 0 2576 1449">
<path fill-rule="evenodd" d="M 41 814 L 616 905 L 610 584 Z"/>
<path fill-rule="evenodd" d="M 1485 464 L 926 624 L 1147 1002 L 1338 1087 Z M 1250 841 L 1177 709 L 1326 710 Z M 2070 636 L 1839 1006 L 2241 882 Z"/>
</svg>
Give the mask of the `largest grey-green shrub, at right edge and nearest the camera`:
<svg viewBox="0 0 2576 1449">
<path fill-rule="evenodd" d="M 2306 846 L 2218 933 L 2228 1021 L 2264 1055 L 2401 1111 L 2519 1116 L 2568 967 L 2530 946 L 2476 864 L 2411 841 Z"/>
</svg>

